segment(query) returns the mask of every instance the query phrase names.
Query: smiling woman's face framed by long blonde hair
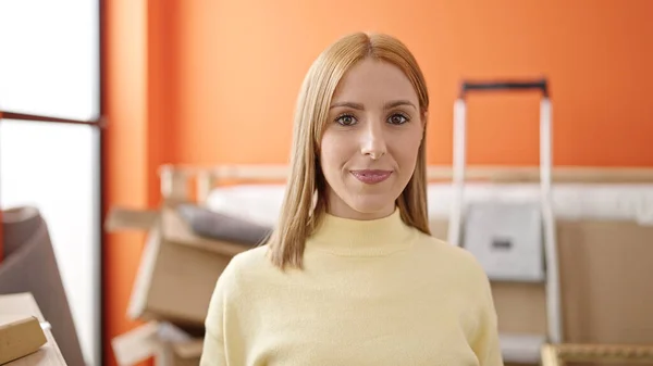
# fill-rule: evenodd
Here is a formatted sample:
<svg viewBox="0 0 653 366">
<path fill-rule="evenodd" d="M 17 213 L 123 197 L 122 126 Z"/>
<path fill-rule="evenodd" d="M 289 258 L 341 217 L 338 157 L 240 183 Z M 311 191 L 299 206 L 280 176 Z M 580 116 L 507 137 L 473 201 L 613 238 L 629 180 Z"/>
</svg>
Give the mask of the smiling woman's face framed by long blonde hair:
<svg viewBox="0 0 653 366">
<path fill-rule="evenodd" d="M 366 59 L 332 98 L 321 141 L 329 213 L 385 217 L 410 180 L 423 136 L 417 93 L 401 68 Z"/>
</svg>

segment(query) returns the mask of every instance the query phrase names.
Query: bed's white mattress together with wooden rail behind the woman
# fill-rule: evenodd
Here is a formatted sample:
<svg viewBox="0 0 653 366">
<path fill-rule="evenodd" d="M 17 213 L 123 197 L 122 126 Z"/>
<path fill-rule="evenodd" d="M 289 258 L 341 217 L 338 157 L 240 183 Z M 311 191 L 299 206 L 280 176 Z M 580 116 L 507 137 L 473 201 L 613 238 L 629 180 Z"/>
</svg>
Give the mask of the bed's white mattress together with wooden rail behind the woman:
<svg viewBox="0 0 653 366">
<path fill-rule="evenodd" d="M 161 167 L 167 199 L 194 200 L 209 209 L 273 225 L 283 200 L 287 168 L 283 165 L 222 165 Z M 537 200 L 534 167 L 477 167 L 469 169 L 467 202 Z M 451 171 L 428 169 L 429 216 L 446 218 L 452 204 Z M 653 224 L 653 169 L 558 168 L 554 172 L 553 204 L 564 219 L 633 220 Z M 221 182 L 226 182 L 222 186 Z M 236 182 L 234 185 L 234 182 Z M 195 190 L 189 185 L 195 184 Z M 195 197 L 192 199 L 192 191 Z"/>
</svg>

